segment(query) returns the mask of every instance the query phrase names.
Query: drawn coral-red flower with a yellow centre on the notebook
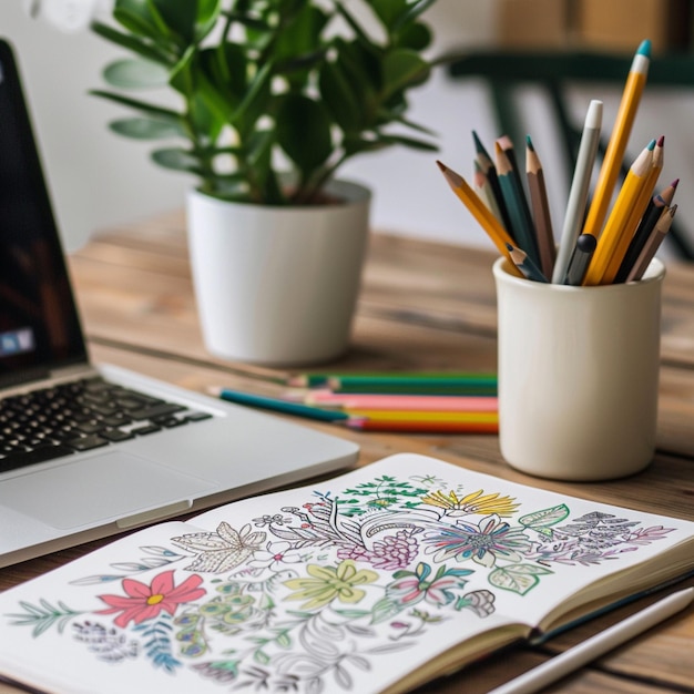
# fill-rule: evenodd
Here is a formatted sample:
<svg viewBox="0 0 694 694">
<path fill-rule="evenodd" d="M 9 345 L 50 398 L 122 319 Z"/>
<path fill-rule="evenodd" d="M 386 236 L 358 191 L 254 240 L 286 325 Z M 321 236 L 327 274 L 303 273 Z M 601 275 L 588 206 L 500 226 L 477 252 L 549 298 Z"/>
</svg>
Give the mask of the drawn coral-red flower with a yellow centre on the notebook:
<svg viewBox="0 0 694 694">
<path fill-rule="evenodd" d="M 192 602 L 205 594 L 205 589 L 198 588 L 203 582 L 202 576 L 192 575 L 181 585 L 174 586 L 173 574 L 173 571 L 164 571 L 154 576 L 151 585 L 133 579 L 123 579 L 123 590 L 127 596 L 100 595 L 109 608 L 96 611 L 96 614 L 122 612 L 115 618 L 114 624 L 124 629 L 131 621 L 140 624 L 157 616 L 162 610 L 173 614 L 180 604 Z"/>
</svg>

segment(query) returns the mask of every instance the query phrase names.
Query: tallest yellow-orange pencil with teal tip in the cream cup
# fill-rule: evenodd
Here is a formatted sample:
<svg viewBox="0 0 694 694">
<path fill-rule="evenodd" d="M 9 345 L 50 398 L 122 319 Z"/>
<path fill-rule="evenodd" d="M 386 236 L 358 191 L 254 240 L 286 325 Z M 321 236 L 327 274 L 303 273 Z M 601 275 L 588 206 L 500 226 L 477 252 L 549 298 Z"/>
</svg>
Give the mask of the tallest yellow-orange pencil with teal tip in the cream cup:
<svg viewBox="0 0 694 694">
<path fill-rule="evenodd" d="M 626 151 L 626 143 L 636 111 L 639 110 L 641 94 L 646 83 L 650 63 L 651 41 L 645 40 L 641 43 L 632 60 L 612 134 L 610 135 L 605 156 L 600 167 L 593 202 L 590 205 L 585 225 L 583 226 L 583 233 L 592 234 L 595 238 L 600 238 L 600 231 L 608 214 L 608 207 L 610 206 L 614 185 L 620 174 L 624 152 Z"/>
</svg>

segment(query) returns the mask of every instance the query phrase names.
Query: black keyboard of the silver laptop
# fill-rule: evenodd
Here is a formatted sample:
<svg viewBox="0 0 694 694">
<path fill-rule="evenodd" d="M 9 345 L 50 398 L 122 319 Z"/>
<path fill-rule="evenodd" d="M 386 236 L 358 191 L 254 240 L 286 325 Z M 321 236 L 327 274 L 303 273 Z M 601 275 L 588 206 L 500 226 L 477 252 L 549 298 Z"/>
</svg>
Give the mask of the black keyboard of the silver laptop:
<svg viewBox="0 0 694 694">
<path fill-rule="evenodd" d="M 0 472 L 210 419 L 94 377 L 0 399 Z"/>
</svg>

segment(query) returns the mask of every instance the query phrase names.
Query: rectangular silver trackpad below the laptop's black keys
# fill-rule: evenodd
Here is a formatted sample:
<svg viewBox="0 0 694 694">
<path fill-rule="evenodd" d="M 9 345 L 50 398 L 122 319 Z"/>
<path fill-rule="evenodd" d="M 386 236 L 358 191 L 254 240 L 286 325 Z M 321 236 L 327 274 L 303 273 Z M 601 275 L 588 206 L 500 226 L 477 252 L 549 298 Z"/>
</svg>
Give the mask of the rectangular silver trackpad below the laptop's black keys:
<svg viewBox="0 0 694 694">
<path fill-rule="evenodd" d="M 91 490 L 89 496 L 84 490 Z M 192 501 L 212 482 L 113 451 L 2 482 L 2 503 L 54 528 L 113 522 Z"/>
</svg>

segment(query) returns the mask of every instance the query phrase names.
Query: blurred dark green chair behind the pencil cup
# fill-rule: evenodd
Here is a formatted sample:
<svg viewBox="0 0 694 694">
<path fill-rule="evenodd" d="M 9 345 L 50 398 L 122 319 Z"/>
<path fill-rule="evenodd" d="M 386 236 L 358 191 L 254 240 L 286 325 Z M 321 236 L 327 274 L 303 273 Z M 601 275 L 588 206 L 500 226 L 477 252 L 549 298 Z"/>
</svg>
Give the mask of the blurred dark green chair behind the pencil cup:
<svg viewBox="0 0 694 694">
<path fill-rule="evenodd" d="M 562 140 L 571 180 L 583 122 L 576 124 L 569 113 L 567 88 L 581 83 L 623 88 L 632 60 L 633 55 L 584 51 L 476 51 L 450 57 L 447 63 L 452 79 L 487 80 L 499 132 L 508 134 L 513 142 L 525 139 L 524 133 L 519 131 L 517 88 L 533 85 L 543 90 Z M 694 89 L 694 57 L 683 53 L 652 58 L 647 85 L 649 89 Z M 605 146 L 603 139 L 600 155 L 604 155 Z M 626 175 L 624 165 L 622 174 Z M 678 257 L 694 261 L 693 242 L 678 225 L 673 225 L 667 239 Z"/>
</svg>

